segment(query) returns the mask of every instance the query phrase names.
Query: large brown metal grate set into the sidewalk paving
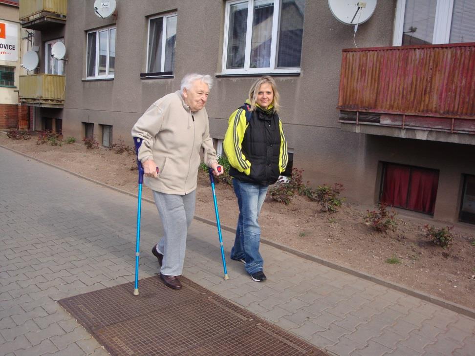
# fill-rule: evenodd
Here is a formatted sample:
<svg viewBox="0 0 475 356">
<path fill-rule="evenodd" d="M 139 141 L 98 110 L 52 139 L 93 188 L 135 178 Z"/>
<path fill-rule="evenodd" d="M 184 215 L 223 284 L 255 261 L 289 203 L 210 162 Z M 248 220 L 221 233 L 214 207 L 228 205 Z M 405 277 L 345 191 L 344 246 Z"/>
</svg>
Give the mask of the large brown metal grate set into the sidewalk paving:
<svg viewBox="0 0 475 356">
<path fill-rule="evenodd" d="M 59 303 L 114 356 L 326 356 L 315 346 L 180 277 L 157 277 L 62 299 Z"/>
</svg>

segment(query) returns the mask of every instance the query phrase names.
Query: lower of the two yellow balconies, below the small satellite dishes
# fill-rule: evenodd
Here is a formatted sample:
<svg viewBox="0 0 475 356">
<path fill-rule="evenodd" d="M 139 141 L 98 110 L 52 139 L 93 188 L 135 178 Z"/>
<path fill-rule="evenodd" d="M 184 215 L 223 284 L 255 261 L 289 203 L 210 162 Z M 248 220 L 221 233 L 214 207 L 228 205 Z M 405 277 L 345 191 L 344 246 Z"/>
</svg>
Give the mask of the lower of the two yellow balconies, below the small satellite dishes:
<svg viewBox="0 0 475 356">
<path fill-rule="evenodd" d="M 33 74 L 20 76 L 20 102 L 30 106 L 63 108 L 64 75 Z"/>
</svg>

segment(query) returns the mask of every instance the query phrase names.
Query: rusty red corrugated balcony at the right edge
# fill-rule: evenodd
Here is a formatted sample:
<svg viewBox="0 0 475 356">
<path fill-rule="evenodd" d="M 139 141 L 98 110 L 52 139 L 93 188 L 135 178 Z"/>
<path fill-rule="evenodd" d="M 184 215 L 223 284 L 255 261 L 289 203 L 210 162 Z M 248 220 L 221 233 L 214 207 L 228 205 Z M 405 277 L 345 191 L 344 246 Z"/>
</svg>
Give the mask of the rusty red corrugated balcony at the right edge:
<svg viewBox="0 0 475 356">
<path fill-rule="evenodd" d="M 475 145 L 475 42 L 344 49 L 342 130 Z"/>
</svg>

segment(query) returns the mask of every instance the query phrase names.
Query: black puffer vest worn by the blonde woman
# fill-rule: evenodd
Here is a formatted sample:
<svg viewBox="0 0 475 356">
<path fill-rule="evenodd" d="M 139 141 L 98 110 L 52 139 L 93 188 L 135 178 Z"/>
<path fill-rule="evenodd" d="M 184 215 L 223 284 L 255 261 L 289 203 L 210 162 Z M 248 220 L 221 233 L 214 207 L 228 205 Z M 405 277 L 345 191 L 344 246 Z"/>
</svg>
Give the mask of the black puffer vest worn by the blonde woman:
<svg viewBox="0 0 475 356">
<path fill-rule="evenodd" d="M 251 162 L 251 173 L 246 175 L 231 167 L 229 174 L 243 182 L 268 186 L 279 179 L 281 132 L 279 115 L 267 115 L 259 107 L 252 112 L 241 144 L 242 153 Z"/>
</svg>

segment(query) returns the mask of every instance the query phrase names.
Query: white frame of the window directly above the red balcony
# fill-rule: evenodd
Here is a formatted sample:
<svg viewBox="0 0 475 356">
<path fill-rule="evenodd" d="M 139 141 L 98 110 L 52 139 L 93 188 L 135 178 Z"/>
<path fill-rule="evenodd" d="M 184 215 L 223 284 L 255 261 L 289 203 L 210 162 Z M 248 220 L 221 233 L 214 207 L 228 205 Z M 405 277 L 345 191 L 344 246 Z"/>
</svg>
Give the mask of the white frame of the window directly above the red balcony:
<svg viewBox="0 0 475 356">
<path fill-rule="evenodd" d="M 432 44 L 449 43 L 450 41 L 453 1 L 454 0 L 437 0 L 437 4 L 435 5 L 435 22 Z M 402 45 L 405 11 L 406 0 L 397 0 L 396 16 L 394 18 L 394 34 L 392 38 L 393 46 Z"/>
</svg>

